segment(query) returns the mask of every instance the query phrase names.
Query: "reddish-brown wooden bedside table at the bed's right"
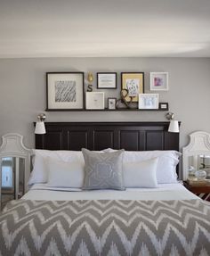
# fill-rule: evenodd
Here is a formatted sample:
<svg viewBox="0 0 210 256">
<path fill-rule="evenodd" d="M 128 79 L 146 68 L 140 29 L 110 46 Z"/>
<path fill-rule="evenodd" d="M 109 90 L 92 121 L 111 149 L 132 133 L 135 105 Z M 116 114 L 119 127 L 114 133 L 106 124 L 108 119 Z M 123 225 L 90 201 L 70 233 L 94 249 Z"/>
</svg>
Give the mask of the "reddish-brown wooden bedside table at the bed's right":
<svg viewBox="0 0 210 256">
<path fill-rule="evenodd" d="M 191 193 L 210 202 L 210 182 L 207 185 L 190 185 L 187 181 L 183 181 L 183 186 L 190 190 Z"/>
</svg>

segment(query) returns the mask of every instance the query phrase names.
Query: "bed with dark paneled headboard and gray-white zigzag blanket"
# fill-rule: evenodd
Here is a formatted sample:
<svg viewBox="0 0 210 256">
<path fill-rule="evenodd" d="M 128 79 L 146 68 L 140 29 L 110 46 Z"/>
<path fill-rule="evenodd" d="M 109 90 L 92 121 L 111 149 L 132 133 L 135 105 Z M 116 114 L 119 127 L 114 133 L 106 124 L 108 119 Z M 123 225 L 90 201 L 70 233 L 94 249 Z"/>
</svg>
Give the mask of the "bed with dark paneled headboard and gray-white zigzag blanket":
<svg viewBox="0 0 210 256">
<path fill-rule="evenodd" d="M 61 163 L 44 156 L 52 169 L 63 167 L 64 177 L 67 159 L 80 158 L 78 151 L 88 148 L 90 152 L 83 152 L 85 171 L 88 157 L 119 162 L 122 156 L 126 184 L 132 184 L 131 159 L 135 164 L 141 159 L 138 167 L 144 164 L 147 169 L 145 179 L 153 182 L 157 169 L 159 180 L 154 187 L 83 190 L 53 186 L 66 180 L 56 171 L 54 176 L 48 173 L 47 183 L 34 183 L 22 199 L 4 208 L 0 255 L 210 255 L 209 203 L 180 182 L 165 182 L 174 162 L 170 156 L 179 151 L 179 135 L 168 133 L 167 126 L 165 122 L 46 123 L 46 135 L 36 136 L 36 153 L 63 158 Z M 173 168 L 179 173 L 176 164 Z M 133 183 L 144 184 L 139 175 L 140 181 Z"/>
</svg>

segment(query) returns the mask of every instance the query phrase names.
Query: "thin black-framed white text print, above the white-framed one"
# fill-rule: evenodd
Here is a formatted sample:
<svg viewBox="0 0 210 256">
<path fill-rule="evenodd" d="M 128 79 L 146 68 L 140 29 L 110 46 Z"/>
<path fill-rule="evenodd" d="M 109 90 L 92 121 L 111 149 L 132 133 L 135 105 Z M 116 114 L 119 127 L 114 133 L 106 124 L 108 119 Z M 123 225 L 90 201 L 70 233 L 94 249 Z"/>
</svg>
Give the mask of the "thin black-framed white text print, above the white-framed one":
<svg viewBox="0 0 210 256">
<path fill-rule="evenodd" d="M 117 73 L 101 72 L 97 73 L 98 89 L 117 89 Z"/>
</svg>

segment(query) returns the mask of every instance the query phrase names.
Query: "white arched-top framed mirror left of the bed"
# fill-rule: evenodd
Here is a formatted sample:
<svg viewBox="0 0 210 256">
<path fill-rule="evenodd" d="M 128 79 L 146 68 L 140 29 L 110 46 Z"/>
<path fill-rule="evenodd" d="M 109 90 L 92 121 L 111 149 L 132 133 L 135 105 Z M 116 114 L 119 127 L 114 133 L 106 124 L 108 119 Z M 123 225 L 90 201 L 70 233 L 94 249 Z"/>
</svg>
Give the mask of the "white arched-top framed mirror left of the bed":
<svg viewBox="0 0 210 256">
<path fill-rule="evenodd" d="M 2 136 L 0 146 L 0 211 L 7 202 L 20 199 L 28 190 L 30 153 L 19 134 Z"/>
</svg>

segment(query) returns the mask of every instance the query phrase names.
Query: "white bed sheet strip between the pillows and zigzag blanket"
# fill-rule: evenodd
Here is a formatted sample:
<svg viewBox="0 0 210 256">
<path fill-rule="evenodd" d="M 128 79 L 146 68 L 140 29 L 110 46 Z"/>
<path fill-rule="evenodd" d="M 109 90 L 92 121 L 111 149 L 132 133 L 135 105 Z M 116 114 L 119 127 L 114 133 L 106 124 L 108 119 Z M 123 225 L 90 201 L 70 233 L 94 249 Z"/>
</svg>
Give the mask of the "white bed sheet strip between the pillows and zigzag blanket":
<svg viewBox="0 0 210 256">
<path fill-rule="evenodd" d="M 158 188 L 129 188 L 125 191 L 92 190 L 72 191 L 36 184 L 22 197 L 26 200 L 75 201 L 75 200 L 191 200 L 199 199 L 182 184 L 161 184 Z"/>
</svg>

